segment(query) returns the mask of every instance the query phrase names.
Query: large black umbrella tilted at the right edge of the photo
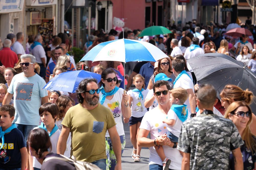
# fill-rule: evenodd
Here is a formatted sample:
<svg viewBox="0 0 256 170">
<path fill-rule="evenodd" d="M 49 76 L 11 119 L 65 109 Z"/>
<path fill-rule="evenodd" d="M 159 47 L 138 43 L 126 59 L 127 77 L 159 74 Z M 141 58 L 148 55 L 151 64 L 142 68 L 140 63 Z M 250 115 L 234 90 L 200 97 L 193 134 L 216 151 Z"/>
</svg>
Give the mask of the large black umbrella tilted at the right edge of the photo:
<svg viewBox="0 0 256 170">
<path fill-rule="evenodd" d="M 227 84 L 249 89 L 256 95 L 256 75 L 241 61 L 220 53 L 202 54 L 187 60 L 193 69 L 197 82 L 212 84 L 220 99 L 220 92 Z M 256 112 L 256 104 L 251 104 Z"/>
</svg>

